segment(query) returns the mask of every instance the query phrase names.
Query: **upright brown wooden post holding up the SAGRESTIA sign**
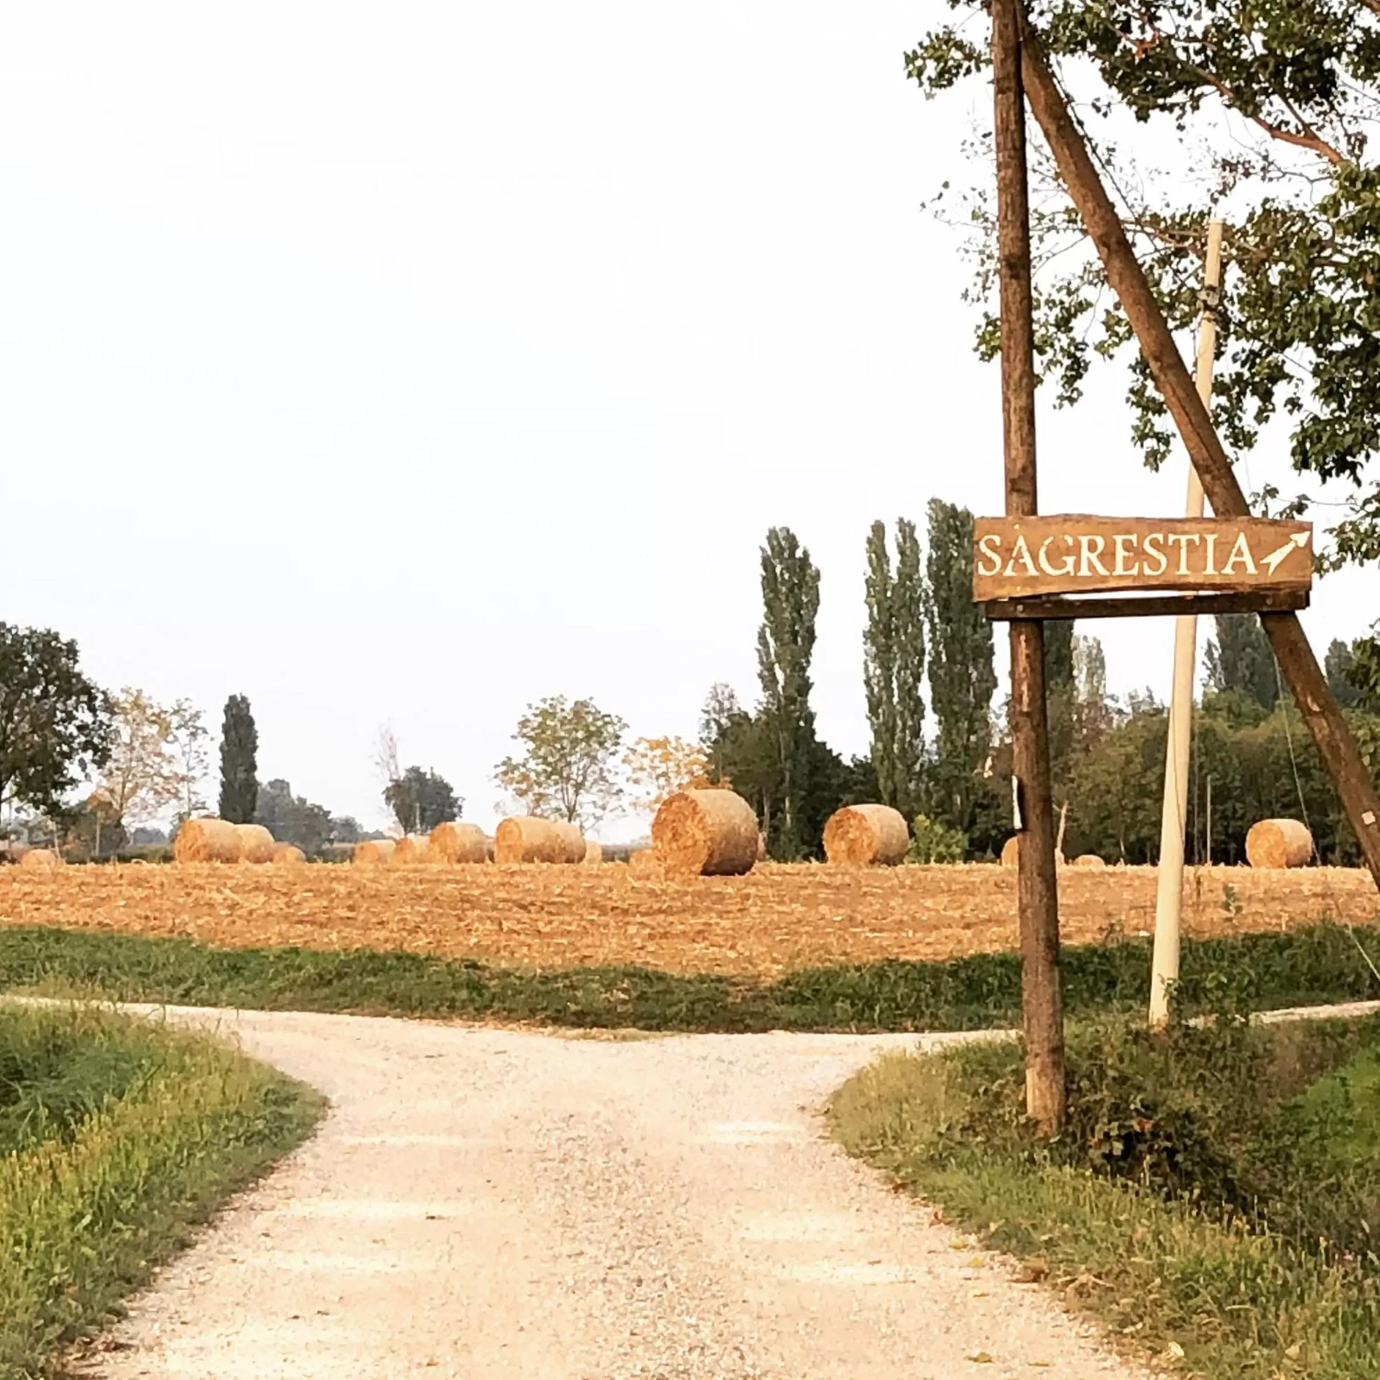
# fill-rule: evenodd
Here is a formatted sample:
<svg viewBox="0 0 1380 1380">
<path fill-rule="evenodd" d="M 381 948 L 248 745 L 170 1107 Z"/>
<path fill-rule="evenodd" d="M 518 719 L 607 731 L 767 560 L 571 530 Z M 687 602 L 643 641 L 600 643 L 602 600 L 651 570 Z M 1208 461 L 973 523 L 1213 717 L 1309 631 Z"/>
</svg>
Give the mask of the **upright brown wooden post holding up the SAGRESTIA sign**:
<svg viewBox="0 0 1380 1380">
<path fill-rule="evenodd" d="M 1002 435 L 1006 513 L 1036 512 L 1035 328 L 1031 308 L 1025 101 L 1021 91 L 1023 0 L 992 3 L 996 105 L 996 217 L 1000 250 Z M 1045 628 L 1014 618 L 1012 639 L 1012 773 L 1021 926 L 1021 1006 L 1025 1027 L 1025 1110 L 1052 1134 L 1064 1125 L 1064 991 L 1058 970 L 1058 891 L 1054 803 L 1045 704 Z"/>
</svg>

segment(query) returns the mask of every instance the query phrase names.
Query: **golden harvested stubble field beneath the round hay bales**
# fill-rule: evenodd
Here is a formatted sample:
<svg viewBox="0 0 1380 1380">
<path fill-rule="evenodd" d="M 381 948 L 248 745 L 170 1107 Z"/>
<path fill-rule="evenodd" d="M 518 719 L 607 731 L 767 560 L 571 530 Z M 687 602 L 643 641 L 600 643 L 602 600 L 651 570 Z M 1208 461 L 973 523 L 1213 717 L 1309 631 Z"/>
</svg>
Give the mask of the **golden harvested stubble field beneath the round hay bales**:
<svg viewBox="0 0 1380 1380">
<path fill-rule="evenodd" d="M 1154 926 L 1154 868 L 1060 875 L 1070 944 Z M 1380 919 L 1350 868 L 1194 868 L 1192 936 Z M 228 947 L 407 949 L 495 963 L 643 965 L 774 977 L 813 965 L 1013 949 L 1016 874 L 999 867 L 846 871 L 760 864 L 741 878 L 672 879 L 629 867 L 0 868 L 0 923 L 188 934 Z"/>
</svg>

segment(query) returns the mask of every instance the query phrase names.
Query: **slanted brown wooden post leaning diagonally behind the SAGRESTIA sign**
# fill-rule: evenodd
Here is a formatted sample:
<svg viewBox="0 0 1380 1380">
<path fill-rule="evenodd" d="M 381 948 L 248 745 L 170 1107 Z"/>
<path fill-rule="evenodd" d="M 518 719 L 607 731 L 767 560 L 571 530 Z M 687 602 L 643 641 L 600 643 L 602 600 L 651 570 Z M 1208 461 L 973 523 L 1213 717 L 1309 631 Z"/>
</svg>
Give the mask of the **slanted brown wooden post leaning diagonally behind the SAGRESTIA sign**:
<svg viewBox="0 0 1380 1380">
<path fill-rule="evenodd" d="M 1231 461 L 1213 428 L 1203 400 L 1198 396 L 1188 368 L 1174 346 L 1165 313 L 1145 280 L 1145 273 L 1126 239 L 1121 217 L 1103 186 L 1082 132 L 1070 115 L 1058 83 L 1045 61 L 1039 40 L 1021 28 L 1021 73 L 1031 112 L 1049 142 L 1060 178 L 1068 189 L 1083 225 L 1097 247 L 1107 282 L 1121 299 L 1140 352 L 1165 406 L 1174 418 L 1188 458 L 1202 480 L 1203 491 L 1219 518 L 1242 518 L 1249 512 L 1246 495 L 1232 472 Z M 1380 886 L 1380 796 L 1370 782 L 1355 738 L 1341 716 L 1318 658 L 1308 646 L 1299 615 L 1260 615 L 1279 671 L 1293 691 L 1312 741 L 1318 745 L 1347 821 L 1361 845 L 1370 875 Z"/>
</svg>

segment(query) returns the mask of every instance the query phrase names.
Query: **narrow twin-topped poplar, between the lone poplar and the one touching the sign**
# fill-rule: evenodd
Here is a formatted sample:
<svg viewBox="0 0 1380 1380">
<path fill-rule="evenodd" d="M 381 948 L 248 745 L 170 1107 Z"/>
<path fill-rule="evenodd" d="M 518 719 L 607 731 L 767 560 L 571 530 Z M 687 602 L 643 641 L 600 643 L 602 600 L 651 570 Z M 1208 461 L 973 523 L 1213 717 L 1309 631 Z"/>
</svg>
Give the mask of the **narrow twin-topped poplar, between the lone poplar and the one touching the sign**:
<svg viewBox="0 0 1380 1380">
<path fill-rule="evenodd" d="M 868 534 L 862 680 L 879 799 L 909 817 L 925 756 L 925 585 L 915 523 L 901 518 L 896 527 L 894 575 L 886 524 L 872 523 Z"/>
</svg>

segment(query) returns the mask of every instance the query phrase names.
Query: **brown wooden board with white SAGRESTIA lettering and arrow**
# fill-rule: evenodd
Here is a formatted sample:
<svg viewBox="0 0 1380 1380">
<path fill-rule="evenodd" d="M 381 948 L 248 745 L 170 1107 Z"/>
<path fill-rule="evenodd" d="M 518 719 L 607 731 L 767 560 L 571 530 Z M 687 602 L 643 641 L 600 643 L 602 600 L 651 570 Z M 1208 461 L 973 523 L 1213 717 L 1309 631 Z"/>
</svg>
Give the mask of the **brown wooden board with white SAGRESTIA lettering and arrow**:
<svg viewBox="0 0 1380 1380">
<path fill-rule="evenodd" d="M 1312 524 L 1267 518 L 978 518 L 973 599 L 1110 589 L 1307 591 Z"/>
</svg>

